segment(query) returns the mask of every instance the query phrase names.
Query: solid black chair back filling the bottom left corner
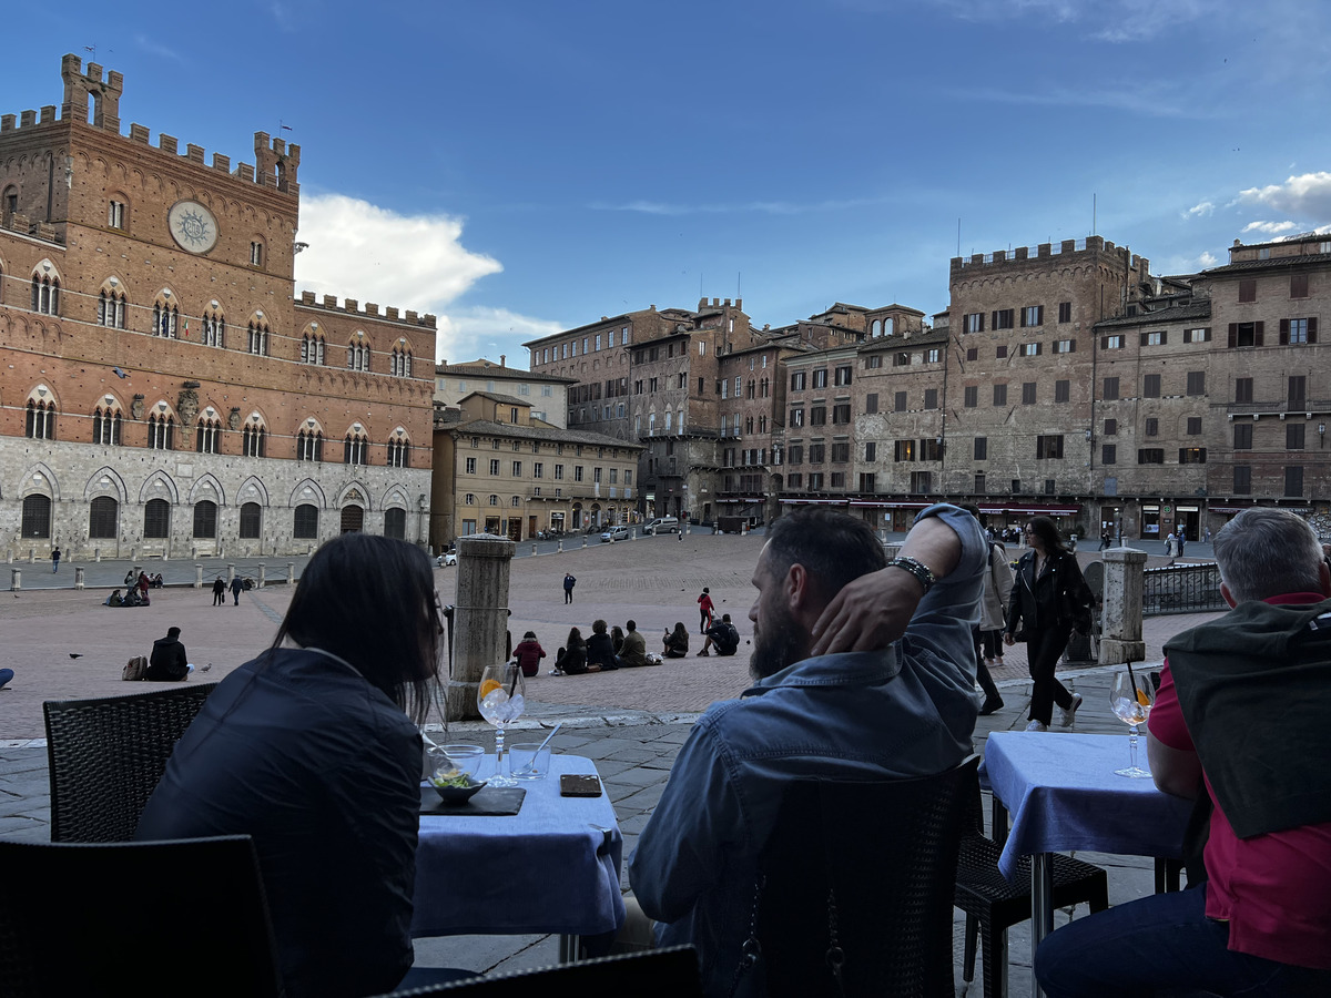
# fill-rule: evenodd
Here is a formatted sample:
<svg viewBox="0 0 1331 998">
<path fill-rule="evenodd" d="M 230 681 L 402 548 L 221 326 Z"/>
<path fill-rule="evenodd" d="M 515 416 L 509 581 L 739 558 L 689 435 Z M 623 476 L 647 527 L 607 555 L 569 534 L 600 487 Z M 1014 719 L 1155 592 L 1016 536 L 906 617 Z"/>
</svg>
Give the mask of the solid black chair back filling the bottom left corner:
<svg viewBox="0 0 1331 998">
<path fill-rule="evenodd" d="M 249 836 L 0 841 L 0 869 L 5 998 L 282 993 Z"/>
</svg>

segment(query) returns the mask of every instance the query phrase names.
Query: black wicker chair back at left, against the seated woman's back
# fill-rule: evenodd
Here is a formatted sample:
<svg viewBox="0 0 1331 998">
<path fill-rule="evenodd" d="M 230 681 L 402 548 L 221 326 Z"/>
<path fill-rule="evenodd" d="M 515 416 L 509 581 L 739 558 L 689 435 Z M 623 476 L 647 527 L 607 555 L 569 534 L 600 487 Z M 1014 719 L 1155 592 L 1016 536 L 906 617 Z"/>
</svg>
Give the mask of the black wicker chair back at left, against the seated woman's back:
<svg viewBox="0 0 1331 998">
<path fill-rule="evenodd" d="M 48 700 L 52 842 L 128 842 L 172 749 L 216 683 Z"/>
</svg>

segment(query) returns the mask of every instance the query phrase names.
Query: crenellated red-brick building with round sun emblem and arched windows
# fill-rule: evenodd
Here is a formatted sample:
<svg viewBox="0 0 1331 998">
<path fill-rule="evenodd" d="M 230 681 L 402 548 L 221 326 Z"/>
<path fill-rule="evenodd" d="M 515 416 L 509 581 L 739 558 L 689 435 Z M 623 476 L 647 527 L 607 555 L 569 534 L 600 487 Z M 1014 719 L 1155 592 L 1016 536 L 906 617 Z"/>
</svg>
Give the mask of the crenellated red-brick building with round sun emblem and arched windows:
<svg viewBox="0 0 1331 998">
<path fill-rule="evenodd" d="M 76 56 L 0 116 L 0 536 L 89 558 L 422 540 L 435 319 L 294 298 L 299 146 L 132 124 Z"/>
</svg>

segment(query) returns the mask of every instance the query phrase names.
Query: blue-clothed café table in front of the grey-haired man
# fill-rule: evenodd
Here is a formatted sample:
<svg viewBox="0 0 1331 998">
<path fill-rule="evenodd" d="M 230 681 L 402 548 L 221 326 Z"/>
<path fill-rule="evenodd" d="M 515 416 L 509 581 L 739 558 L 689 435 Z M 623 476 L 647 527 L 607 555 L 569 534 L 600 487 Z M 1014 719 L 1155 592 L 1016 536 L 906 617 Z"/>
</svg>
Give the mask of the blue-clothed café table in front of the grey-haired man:
<svg viewBox="0 0 1331 998">
<path fill-rule="evenodd" d="M 1138 764 L 1145 762 L 1145 737 Z M 1123 856 L 1178 857 L 1190 801 L 1155 789 L 1153 780 L 1115 776 L 1127 765 L 1127 735 L 994 732 L 984 769 L 994 796 L 1013 816 L 998 869 L 1012 877 L 1030 858 L 1030 953 L 1054 930 L 1050 854 L 1067 849 Z M 1038 986 L 1033 986 L 1038 995 Z"/>
</svg>

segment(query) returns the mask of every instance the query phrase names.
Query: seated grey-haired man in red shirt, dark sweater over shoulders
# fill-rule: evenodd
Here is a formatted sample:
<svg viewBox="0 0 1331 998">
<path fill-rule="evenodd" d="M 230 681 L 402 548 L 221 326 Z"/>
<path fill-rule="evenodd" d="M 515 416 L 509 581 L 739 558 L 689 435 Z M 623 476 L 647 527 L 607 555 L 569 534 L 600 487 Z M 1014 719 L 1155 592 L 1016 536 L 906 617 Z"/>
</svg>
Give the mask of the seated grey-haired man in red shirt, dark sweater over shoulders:
<svg viewBox="0 0 1331 998">
<path fill-rule="evenodd" d="M 1146 743 L 1155 785 L 1210 810 L 1205 876 L 1049 935 L 1049 998 L 1331 994 L 1331 546 L 1270 507 L 1214 543 L 1233 609 L 1165 644 Z"/>
</svg>

